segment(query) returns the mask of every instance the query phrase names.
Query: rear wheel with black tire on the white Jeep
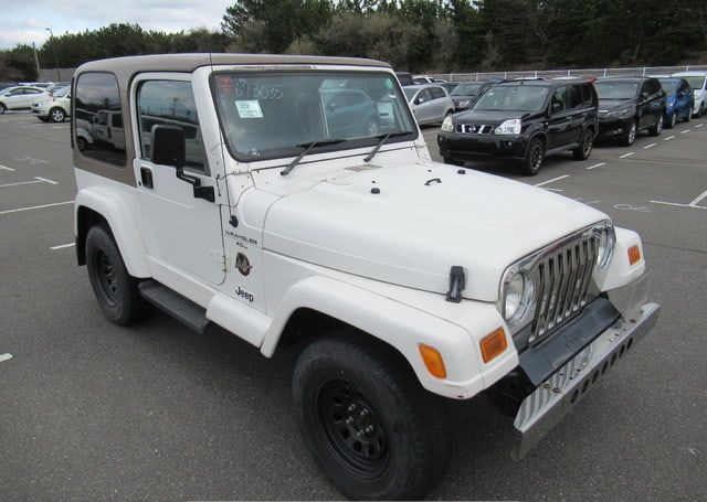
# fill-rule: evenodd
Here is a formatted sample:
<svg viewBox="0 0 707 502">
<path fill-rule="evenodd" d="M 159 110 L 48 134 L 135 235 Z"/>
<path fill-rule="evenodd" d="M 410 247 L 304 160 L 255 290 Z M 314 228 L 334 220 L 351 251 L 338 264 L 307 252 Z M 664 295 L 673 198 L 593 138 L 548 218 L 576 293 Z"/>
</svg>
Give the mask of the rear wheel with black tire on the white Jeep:
<svg viewBox="0 0 707 502">
<path fill-rule="evenodd" d="M 98 305 L 110 321 L 127 325 L 149 312 L 149 305 L 138 290 L 139 280 L 128 274 L 118 246 L 105 225 L 88 229 L 86 268 Z"/>
</svg>

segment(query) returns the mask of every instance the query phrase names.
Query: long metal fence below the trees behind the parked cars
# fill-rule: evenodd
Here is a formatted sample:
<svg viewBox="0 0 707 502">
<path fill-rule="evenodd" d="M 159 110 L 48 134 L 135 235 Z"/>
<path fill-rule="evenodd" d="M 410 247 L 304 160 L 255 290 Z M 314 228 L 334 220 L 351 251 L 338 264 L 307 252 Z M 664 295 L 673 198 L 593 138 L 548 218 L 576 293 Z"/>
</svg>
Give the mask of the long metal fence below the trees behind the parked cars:
<svg viewBox="0 0 707 502">
<path fill-rule="evenodd" d="M 707 71 L 707 65 L 689 66 L 644 66 L 636 68 L 593 68 L 593 70 L 538 70 L 527 72 L 473 72 L 473 73 L 440 73 L 430 75 L 447 82 L 488 81 L 492 78 L 520 78 L 520 77 L 602 77 L 602 76 L 629 76 L 629 75 L 669 75 L 676 72 Z"/>
</svg>

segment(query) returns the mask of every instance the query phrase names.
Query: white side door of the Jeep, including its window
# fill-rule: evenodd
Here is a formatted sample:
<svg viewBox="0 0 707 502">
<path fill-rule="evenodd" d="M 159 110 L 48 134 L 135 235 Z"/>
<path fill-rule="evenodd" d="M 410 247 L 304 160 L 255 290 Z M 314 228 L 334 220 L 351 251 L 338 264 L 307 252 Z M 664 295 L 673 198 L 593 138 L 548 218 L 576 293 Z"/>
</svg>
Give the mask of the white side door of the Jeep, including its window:
<svg viewBox="0 0 707 502">
<path fill-rule="evenodd" d="M 147 253 L 163 265 L 220 285 L 225 278 L 221 213 L 214 202 L 194 196 L 193 186 L 177 178 L 173 167 L 150 161 L 152 127 L 180 127 L 186 138 L 184 173 L 201 186 L 214 186 L 199 133 L 199 114 L 190 75 L 183 79 L 144 77 L 133 84 L 134 169 L 144 217 Z"/>
</svg>

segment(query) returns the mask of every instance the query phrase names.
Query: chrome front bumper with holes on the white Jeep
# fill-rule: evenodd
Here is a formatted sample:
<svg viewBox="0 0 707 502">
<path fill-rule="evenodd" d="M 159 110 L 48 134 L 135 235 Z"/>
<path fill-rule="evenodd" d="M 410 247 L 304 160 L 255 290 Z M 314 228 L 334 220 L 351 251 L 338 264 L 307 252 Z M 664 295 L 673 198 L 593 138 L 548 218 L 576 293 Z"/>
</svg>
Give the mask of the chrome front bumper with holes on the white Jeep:
<svg viewBox="0 0 707 502">
<path fill-rule="evenodd" d="M 520 404 L 513 458 L 523 459 L 577 405 L 597 380 L 631 352 L 655 325 L 661 306 L 627 309 L 609 329 L 569 360 Z"/>
</svg>

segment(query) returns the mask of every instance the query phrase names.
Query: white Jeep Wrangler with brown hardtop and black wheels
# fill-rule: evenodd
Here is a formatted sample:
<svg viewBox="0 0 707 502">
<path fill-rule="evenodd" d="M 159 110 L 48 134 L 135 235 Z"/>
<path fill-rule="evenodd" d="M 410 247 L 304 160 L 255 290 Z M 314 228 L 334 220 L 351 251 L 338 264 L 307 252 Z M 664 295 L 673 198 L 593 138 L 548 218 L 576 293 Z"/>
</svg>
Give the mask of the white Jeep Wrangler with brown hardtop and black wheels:
<svg viewBox="0 0 707 502">
<path fill-rule="evenodd" d="M 446 404 L 482 392 L 521 458 L 657 319 L 635 233 L 432 162 L 384 63 L 124 57 L 81 66 L 72 96 L 74 138 L 76 117 L 124 118 L 124 140 L 74 148 L 105 314 L 151 303 L 268 357 L 297 341 L 302 434 L 350 498 L 423 496 L 460 434 Z"/>
</svg>

